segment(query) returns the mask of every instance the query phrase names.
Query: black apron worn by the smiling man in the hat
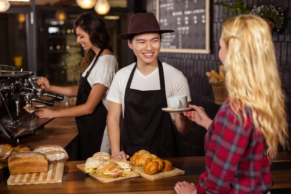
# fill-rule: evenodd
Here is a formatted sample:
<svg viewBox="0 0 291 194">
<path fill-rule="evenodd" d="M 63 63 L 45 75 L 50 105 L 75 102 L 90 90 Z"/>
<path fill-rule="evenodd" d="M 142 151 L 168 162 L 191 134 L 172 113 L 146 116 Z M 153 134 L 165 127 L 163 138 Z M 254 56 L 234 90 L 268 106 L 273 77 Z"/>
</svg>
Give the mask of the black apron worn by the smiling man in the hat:
<svg viewBox="0 0 291 194">
<path fill-rule="evenodd" d="M 185 149 L 179 132 L 167 107 L 162 63 L 158 60 L 161 90 L 141 91 L 130 89 L 137 67 L 133 67 L 124 97 L 124 122 L 121 134 L 121 150 L 129 156 L 145 149 L 158 157 L 182 157 Z"/>
</svg>

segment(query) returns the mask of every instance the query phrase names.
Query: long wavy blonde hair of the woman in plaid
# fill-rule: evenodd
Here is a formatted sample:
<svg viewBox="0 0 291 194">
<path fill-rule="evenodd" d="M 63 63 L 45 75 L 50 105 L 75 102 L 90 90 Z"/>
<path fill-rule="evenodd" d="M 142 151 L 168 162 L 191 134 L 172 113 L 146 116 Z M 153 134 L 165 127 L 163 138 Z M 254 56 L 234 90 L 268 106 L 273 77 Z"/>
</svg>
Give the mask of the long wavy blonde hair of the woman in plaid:
<svg viewBox="0 0 291 194">
<path fill-rule="evenodd" d="M 230 107 L 238 116 L 241 112 L 244 121 L 245 106 L 250 108 L 255 128 L 265 137 L 266 154 L 275 158 L 278 143 L 286 148 L 289 139 L 286 97 L 271 30 L 262 18 L 241 15 L 229 19 L 222 32 L 227 46 L 225 68 Z"/>
</svg>

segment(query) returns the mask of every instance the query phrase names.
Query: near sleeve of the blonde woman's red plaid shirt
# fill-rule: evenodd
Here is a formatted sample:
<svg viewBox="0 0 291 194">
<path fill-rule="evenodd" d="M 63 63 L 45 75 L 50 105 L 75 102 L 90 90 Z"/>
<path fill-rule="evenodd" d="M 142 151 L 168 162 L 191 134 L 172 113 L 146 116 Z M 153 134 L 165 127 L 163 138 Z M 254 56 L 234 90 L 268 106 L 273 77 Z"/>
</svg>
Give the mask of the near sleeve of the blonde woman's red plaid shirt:
<svg viewBox="0 0 291 194">
<path fill-rule="evenodd" d="M 210 125 L 205 140 L 206 171 L 200 176 L 197 193 L 227 193 L 248 145 L 248 130 L 229 104 L 224 104 Z"/>
</svg>

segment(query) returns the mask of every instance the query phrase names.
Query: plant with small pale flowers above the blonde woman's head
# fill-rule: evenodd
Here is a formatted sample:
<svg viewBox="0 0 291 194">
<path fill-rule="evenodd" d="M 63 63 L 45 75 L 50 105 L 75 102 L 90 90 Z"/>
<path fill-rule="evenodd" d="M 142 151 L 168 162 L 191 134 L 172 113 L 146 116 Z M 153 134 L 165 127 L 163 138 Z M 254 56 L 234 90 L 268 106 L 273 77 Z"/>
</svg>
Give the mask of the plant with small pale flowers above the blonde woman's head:
<svg viewBox="0 0 291 194">
<path fill-rule="evenodd" d="M 269 6 L 262 5 L 259 7 L 254 6 L 254 9 L 250 11 L 250 15 L 269 19 L 270 21 L 275 23 L 277 31 L 279 31 L 279 29 L 282 28 L 284 14 L 281 7 L 279 7 L 278 10 L 276 10 L 274 5 Z"/>
</svg>

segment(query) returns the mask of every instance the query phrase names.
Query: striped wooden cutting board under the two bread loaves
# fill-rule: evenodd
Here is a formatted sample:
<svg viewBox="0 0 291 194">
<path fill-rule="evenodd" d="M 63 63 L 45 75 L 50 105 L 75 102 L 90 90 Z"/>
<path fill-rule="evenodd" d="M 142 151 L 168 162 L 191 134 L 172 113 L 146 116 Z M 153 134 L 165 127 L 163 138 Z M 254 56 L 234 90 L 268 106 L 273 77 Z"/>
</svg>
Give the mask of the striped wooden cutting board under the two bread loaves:
<svg viewBox="0 0 291 194">
<path fill-rule="evenodd" d="M 10 175 L 7 185 L 30 185 L 62 182 L 65 162 L 49 164 L 49 171 L 45 173 L 26 173 Z"/>
</svg>

